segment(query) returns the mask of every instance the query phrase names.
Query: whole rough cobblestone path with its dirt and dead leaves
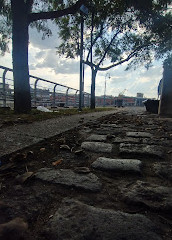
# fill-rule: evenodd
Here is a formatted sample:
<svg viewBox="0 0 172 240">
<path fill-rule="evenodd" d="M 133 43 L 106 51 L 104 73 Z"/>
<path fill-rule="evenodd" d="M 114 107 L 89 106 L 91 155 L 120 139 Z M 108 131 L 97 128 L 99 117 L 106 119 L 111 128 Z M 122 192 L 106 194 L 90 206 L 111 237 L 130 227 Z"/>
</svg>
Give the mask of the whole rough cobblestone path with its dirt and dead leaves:
<svg viewBox="0 0 172 240">
<path fill-rule="evenodd" d="M 81 120 L 2 158 L 0 239 L 172 239 L 172 121 Z"/>
</svg>

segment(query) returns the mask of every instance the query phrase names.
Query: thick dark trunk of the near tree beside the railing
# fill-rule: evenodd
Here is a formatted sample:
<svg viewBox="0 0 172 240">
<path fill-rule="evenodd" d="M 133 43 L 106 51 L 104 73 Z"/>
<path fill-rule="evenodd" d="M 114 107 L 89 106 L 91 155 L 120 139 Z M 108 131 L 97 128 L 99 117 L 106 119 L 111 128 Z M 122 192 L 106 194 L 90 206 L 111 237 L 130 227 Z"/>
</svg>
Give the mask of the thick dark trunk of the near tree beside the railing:
<svg viewBox="0 0 172 240">
<path fill-rule="evenodd" d="M 28 67 L 28 9 L 24 0 L 11 0 L 14 110 L 28 113 L 31 96 Z"/>
</svg>

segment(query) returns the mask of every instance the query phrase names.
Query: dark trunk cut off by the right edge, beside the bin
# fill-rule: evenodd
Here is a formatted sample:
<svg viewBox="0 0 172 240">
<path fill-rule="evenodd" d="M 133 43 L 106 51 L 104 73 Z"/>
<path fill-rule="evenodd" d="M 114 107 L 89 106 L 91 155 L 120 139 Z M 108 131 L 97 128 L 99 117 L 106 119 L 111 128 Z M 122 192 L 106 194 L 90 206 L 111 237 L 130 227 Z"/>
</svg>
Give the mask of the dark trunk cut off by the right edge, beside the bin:
<svg viewBox="0 0 172 240">
<path fill-rule="evenodd" d="M 164 66 L 159 115 L 172 117 L 172 67 Z"/>
</svg>

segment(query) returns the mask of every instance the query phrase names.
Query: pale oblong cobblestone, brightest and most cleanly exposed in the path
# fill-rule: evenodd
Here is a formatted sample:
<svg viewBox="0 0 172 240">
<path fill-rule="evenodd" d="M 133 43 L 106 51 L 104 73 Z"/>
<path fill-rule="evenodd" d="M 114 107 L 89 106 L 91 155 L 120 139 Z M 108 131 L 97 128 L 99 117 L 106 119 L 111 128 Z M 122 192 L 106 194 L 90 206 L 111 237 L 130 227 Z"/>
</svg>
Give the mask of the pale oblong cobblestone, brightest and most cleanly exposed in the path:
<svg viewBox="0 0 172 240">
<path fill-rule="evenodd" d="M 136 159 L 112 159 L 99 157 L 92 163 L 92 167 L 107 171 L 126 171 L 126 172 L 141 172 L 142 162 Z"/>
</svg>

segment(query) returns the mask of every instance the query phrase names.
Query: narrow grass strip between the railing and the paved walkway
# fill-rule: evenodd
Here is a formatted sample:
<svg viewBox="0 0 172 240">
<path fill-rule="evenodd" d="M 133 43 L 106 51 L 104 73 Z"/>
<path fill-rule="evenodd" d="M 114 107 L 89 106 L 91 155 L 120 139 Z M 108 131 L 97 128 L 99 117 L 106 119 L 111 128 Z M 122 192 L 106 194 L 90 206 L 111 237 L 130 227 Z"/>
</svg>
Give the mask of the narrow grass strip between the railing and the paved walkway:
<svg viewBox="0 0 172 240">
<path fill-rule="evenodd" d="M 79 112 L 77 108 L 56 109 L 53 112 L 41 112 L 37 109 L 32 109 L 31 113 L 29 114 L 15 114 L 13 110 L 0 108 L 0 123 L 7 125 L 10 125 L 10 123 L 30 123 L 34 121 L 43 121 L 46 119 L 57 118 L 60 116 L 110 111 L 113 109 L 114 108 L 83 108 L 81 112 Z"/>
</svg>

